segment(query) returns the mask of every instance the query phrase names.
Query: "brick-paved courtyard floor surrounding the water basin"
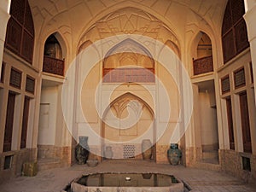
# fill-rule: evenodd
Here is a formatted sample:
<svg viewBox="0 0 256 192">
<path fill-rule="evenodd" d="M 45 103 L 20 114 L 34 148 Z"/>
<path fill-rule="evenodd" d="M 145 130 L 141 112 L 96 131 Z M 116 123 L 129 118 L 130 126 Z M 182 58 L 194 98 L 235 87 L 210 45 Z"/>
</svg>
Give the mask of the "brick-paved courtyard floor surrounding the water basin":
<svg viewBox="0 0 256 192">
<path fill-rule="evenodd" d="M 184 166 L 155 164 L 144 160 L 105 160 L 98 166 L 75 165 L 38 172 L 35 177 L 16 177 L 0 185 L 1 192 L 59 192 L 83 173 L 158 172 L 172 174 L 189 185 L 192 192 L 253 192 L 256 185 L 243 183 L 236 177 Z M 256 182 L 255 182 L 256 183 Z"/>
</svg>

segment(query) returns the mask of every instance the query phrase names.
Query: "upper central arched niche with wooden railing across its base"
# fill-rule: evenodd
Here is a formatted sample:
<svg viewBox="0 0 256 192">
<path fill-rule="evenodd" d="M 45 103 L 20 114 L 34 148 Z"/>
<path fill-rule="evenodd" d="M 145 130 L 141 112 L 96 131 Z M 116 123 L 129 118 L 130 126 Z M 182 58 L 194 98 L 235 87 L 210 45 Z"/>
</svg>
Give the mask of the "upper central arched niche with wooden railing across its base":
<svg viewBox="0 0 256 192">
<path fill-rule="evenodd" d="M 154 59 L 143 45 L 127 38 L 103 60 L 104 82 L 154 82 Z"/>
</svg>

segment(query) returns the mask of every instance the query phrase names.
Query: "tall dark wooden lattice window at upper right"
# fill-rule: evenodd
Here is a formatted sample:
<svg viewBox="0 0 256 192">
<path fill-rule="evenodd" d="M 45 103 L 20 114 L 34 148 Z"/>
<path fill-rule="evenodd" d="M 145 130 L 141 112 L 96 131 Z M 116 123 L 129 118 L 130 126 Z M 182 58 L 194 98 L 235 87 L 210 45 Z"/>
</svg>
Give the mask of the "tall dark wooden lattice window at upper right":
<svg viewBox="0 0 256 192">
<path fill-rule="evenodd" d="M 249 46 L 247 26 L 242 17 L 244 14 L 243 0 L 229 0 L 222 25 L 224 63 L 230 61 Z"/>
</svg>

